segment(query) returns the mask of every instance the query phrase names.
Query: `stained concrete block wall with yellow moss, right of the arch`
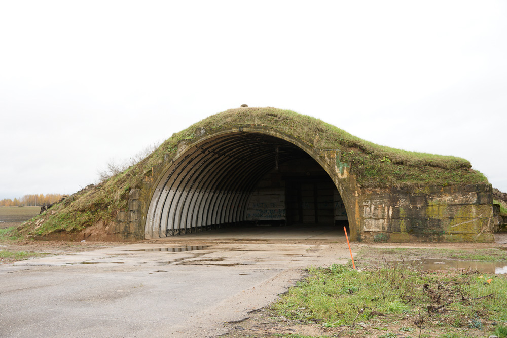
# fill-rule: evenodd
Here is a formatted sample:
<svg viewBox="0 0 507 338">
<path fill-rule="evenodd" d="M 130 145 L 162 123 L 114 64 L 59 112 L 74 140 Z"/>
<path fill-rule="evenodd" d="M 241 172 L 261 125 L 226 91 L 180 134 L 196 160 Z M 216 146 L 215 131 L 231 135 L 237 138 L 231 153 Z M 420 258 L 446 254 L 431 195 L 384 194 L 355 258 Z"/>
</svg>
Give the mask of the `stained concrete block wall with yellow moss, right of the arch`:
<svg viewBox="0 0 507 338">
<path fill-rule="evenodd" d="M 368 242 L 491 242 L 490 184 L 361 189 L 358 237 Z"/>
</svg>

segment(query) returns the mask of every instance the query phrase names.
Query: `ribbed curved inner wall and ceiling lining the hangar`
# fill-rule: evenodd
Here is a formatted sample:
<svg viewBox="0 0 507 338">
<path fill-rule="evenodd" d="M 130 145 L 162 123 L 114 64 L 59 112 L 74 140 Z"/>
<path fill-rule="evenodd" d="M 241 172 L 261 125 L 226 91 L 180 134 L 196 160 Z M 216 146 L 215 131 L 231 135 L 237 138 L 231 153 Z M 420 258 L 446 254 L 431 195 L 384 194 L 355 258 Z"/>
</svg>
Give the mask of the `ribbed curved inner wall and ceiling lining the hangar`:
<svg viewBox="0 0 507 338">
<path fill-rule="evenodd" d="M 182 148 L 153 193 L 147 238 L 244 221 L 253 188 L 275 166 L 276 148 L 279 164 L 312 155 L 287 139 L 241 130 L 204 137 Z"/>
</svg>

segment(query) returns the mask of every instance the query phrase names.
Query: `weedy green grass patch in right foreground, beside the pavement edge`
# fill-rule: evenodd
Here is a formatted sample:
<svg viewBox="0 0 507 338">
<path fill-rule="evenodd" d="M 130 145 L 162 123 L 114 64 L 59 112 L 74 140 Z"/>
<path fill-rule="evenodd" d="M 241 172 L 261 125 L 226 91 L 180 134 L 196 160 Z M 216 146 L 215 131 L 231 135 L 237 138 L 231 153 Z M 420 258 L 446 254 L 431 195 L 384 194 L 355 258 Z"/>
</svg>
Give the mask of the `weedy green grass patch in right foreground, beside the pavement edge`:
<svg viewBox="0 0 507 338">
<path fill-rule="evenodd" d="M 493 330 L 491 322 L 507 322 L 505 304 L 507 278 L 502 275 L 421 272 L 402 265 L 359 272 L 333 264 L 310 269 L 308 278 L 289 289 L 272 308 L 307 323 L 336 327 L 403 320 L 406 332 L 419 331 L 422 322 L 426 332 L 459 336 L 450 331 Z M 400 332 L 386 332 L 395 333 Z"/>
</svg>

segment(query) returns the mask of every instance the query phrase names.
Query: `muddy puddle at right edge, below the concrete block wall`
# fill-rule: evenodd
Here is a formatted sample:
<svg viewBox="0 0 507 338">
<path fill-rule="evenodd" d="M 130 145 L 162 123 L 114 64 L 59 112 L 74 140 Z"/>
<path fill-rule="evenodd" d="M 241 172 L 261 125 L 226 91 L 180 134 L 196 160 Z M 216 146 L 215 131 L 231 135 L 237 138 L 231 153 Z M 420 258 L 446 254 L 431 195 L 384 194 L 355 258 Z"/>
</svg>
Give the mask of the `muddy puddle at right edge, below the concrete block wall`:
<svg viewBox="0 0 507 338">
<path fill-rule="evenodd" d="M 404 265 L 413 265 L 425 270 L 478 270 L 484 273 L 507 274 L 507 264 L 501 262 L 462 261 L 448 259 L 405 260 Z"/>
</svg>

